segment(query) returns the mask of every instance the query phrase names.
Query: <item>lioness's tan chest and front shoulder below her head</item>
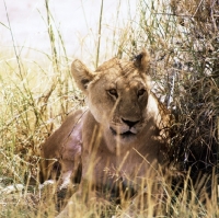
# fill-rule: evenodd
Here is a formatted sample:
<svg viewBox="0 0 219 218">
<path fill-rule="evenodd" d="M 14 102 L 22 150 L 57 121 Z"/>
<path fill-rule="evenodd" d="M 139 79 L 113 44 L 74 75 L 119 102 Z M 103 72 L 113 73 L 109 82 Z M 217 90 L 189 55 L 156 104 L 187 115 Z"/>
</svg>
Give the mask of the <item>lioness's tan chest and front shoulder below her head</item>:
<svg viewBox="0 0 219 218">
<path fill-rule="evenodd" d="M 95 119 L 90 117 L 84 123 L 87 128 L 82 131 L 82 180 L 97 186 L 111 186 L 119 180 L 139 184 L 141 179 L 150 176 L 152 169 L 157 168 L 154 145 L 151 144 L 153 148 L 147 146 L 146 150 L 129 147 L 127 150 L 112 151 Z"/>
</svg>

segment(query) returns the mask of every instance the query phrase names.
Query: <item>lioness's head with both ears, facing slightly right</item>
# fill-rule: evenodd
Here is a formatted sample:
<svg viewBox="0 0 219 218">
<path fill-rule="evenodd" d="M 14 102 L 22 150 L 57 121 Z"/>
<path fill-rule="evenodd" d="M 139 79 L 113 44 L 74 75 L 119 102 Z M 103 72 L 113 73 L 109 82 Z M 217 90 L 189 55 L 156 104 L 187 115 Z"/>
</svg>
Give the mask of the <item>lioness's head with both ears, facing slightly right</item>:
<svg viewBox="0 0 219 218">
<path fill-rule="evenodd" d="M 73 78 L 88 97 L 91 114 L 119 144 L 132 141 L 158 114 L 151 99 L 149 65 L 147 51 L 134 61 L 113 58 L 95 71 L 80 60 L 72 62 Z"/>
</svg>

